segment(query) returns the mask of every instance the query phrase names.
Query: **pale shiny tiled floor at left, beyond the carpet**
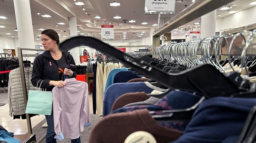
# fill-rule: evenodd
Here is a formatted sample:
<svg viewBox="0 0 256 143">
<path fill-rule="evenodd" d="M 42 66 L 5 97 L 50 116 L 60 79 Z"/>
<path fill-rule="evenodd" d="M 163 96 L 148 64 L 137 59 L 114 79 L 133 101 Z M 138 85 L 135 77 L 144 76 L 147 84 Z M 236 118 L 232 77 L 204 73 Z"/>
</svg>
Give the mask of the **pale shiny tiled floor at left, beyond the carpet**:
<svg viewBox="0 0 256 143">
<path fill-rule="evenodd" d="M 92 94 L 89 94 L 90 113 L 93 113 L 92 109 Z M 45 119 L 44 115 L 31 117 L 32 128 L 39 122 Z M 9 105 L 0 106 L 0 125 L 2 125 L 9 132 L 14 134 L 25 134 L 28 132 L 26 119 L 13 119 L 9 116 Z"/>
</svg>

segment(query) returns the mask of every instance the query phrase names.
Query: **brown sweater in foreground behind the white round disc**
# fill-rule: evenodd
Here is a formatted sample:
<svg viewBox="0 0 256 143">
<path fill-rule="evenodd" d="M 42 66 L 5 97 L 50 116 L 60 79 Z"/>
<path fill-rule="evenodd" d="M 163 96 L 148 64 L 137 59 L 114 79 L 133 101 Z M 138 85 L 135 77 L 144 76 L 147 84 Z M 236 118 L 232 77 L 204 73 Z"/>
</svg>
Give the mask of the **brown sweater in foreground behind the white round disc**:
<svg viewBox="0 0 256 143">
<path fill-rule="evenodd" d="M 147 109 L 111 114 L 101 119 L 91 130 L 89 143 L 123 143 L 135 131 L 151 133 L 158 143 L 178 139 L 183 132 L 158 124 Z"/>
</svg>

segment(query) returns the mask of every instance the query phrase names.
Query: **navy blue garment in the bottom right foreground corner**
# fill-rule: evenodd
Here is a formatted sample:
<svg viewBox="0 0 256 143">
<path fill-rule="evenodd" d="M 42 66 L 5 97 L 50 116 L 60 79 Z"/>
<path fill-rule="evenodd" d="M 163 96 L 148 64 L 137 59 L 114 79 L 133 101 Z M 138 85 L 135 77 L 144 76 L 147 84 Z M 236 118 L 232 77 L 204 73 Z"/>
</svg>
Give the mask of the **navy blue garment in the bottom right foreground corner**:
<svg viewBox="0 0 256 143">
<path fill-rule="evenodd" d="M 184 135 L 172 143 L 220 143 L 239 136 L 255 98 L 214 97 L 195 111 Z"/>
</svg>

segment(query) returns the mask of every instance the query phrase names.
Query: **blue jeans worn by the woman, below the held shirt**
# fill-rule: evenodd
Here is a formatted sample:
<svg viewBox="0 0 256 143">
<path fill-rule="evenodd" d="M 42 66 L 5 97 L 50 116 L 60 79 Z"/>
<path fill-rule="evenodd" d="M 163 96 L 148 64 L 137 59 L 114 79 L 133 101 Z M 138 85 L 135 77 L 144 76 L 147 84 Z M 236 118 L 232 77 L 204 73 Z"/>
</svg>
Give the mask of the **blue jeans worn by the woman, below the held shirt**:
<svg viewBox="0 0 256 143">
<path fill-rule="evenodd" d="M 46 143 L 56 143 L 56 139 L 54 138 L 56 133 L 54 132 L 53 112 L 51 115 L 45 115 L 45 118 L 47 121 Z M 80 137 L 71 140 L 71 143 L 81 143 Z"/>
</svg>

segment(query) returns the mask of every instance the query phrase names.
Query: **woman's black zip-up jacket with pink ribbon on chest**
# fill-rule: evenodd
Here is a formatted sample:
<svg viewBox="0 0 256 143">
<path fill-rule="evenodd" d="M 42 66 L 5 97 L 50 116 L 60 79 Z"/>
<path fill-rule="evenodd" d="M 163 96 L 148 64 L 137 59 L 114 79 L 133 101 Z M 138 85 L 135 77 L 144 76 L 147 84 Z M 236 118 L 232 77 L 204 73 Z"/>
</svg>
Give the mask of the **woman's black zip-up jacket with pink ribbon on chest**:
<svg viewBox="0 0 256 143">
<path fill-rule="evenodd" d="M 70 55 L 69 52 L 62 53 L 64 55 L 64 58 L 67 61 L 67 64 L 75 65 L 75 61 Z M 76 77 L 76 69 L 73 70 L 72 77 Z M 31 77 L 31 83 L 35 87 L 39 87 L 42 80 L 42 85 L 40 88 L 46 88 L 46 91 L 52 91 L 54 86 L 50 86 L 49 82 L 51 80 L 59 81 L 59 69 L 57 62 L 53 59 L 52 55 L 49 51 L 45 51 L 43 54 L 38 55 L 33 63 L 33 71 L 32 71 L 32 77 Z M 39 81 L 41 80 L 41 81 Z M 39 83 L 38 83 L 39 81 Z M 37 85 L 38 83 L 38 85 Z"/>
</svg>

